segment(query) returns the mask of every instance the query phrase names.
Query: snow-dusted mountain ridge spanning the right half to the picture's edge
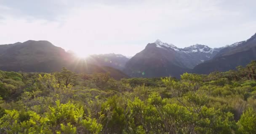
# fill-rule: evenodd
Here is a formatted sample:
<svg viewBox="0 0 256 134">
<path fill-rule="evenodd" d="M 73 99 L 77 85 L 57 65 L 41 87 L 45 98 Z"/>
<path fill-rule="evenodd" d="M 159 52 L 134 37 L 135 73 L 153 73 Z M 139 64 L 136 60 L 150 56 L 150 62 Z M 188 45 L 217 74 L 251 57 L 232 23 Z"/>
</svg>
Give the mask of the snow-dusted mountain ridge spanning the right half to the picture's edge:
<svg viewBox="0 0 256 134">
<path fill-rule="evenodd" d="M 246 41 L 220 48 L 200 44 L 178 48 L 157 39 L 132 57 L 125 64 L 124 71 L 132 77 L 179 77 L 184 72 L 208 74 L 213 71 L 228 71 L 255 59 L 256 34 Z M 150 75 L 145 75 L 146 72 Z"/>
</svg>

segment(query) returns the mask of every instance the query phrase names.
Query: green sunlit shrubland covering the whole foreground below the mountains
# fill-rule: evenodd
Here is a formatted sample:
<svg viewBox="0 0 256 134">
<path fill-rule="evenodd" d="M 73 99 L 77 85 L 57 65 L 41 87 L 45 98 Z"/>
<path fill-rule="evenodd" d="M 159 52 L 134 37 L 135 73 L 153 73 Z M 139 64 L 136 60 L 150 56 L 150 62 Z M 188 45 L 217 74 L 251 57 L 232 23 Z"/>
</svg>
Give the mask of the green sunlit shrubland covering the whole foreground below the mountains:
<svg viewBox="0 0 256 134">
<path fill-rule="evenodd" d="M 256 61 L 181 79 L 0 71 L 0 134 L 256 134 Z"/>
</svg>

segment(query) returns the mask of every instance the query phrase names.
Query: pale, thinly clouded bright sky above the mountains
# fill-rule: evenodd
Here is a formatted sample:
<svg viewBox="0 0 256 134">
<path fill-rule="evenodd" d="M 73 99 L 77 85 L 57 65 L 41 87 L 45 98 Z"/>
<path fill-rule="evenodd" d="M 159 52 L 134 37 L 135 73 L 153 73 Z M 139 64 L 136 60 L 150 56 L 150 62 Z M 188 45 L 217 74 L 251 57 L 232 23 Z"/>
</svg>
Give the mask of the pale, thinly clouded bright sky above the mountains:
<svg viewBox="0 0 256 134">
<path fill-rule="evenodd" d="M 0 44 L 133 56 L 157 39 L 212 48 L 256 33 L 256 0 L 0 0 Z"/>
</svg>

